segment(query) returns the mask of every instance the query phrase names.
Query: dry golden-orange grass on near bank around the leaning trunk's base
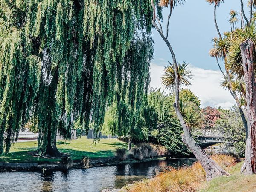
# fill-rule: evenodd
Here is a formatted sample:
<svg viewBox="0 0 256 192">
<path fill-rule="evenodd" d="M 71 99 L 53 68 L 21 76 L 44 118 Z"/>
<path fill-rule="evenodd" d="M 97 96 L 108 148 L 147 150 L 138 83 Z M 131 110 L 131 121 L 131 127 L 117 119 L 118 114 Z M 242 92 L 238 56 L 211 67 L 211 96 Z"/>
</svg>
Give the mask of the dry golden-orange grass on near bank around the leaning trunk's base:
<svg viewBox="0 0 256 192">
<path fill-rule="evenodd" d="M 227 168 L 236 163 L 236 158 L 228 155 L 212 155 L 216 163 Z M 165 172 L 156 177 L 134 183 L 129 192 L 194 192 L 205 181 L 205 172 L 196 162 L 192 166 L 184 166 L 180 169 L 169 167 Z"/>
</svg>

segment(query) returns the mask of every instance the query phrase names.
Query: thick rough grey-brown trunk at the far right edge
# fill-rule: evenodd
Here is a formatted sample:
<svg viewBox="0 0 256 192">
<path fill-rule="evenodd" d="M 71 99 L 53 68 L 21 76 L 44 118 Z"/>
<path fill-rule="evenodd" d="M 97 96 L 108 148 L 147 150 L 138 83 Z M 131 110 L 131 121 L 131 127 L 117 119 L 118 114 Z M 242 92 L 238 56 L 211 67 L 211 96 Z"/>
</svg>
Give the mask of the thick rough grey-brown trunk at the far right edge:
<svg viewBox="0 0 256 192">
<path fill-rule="evenodd" d="M 241 43 L 240 49 L 244 69 L 248 125 L 245 162 L 241 171 L 244 171 L 245 174 L 250 175 L 256 173 L 256 83 L 253 67 L 254 44 L 252 40 L 247 39 Z"/>
</svg>

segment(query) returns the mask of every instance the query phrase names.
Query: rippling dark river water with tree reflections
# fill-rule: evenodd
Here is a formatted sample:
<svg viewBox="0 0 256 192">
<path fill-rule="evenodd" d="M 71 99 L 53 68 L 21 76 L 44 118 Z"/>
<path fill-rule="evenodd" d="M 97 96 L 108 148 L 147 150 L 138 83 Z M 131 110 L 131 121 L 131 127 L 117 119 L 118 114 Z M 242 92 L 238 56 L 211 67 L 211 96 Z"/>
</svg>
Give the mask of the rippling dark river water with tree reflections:
<svg viewBox="0 0 256 192">
<path fill-rule="evenodd" d="M 2 172 L 0 192 L 99 192 L 152 178 L 168 166 L 191 165 L 194 161 L 184 158 L 67 171 Z"/>
</svg>

